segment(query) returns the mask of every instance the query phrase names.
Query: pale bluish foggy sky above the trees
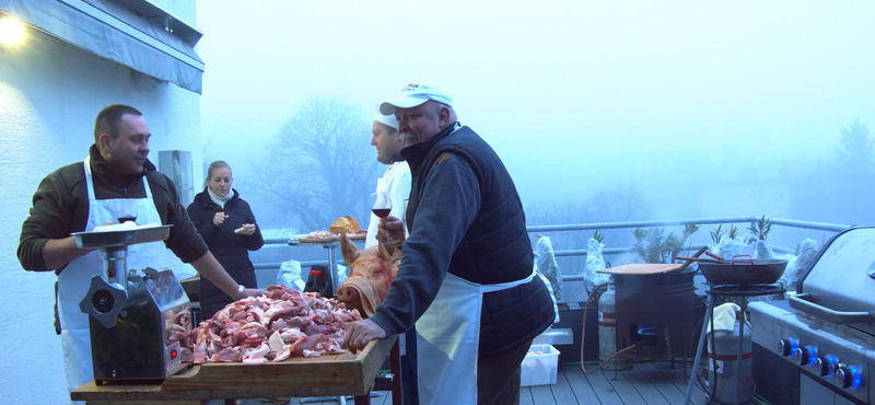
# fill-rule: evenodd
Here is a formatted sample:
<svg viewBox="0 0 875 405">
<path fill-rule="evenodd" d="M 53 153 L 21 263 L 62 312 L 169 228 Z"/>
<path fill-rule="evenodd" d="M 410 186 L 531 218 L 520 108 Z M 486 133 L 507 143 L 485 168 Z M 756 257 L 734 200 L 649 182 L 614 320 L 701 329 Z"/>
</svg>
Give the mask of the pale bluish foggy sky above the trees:
<svg viewBox="0 0 875 405">
<path fill-rule="evenodd" d="M 372 114 L 408 82 L 450 93 L 524 201 L 635 182 L 663 218 L 689 215 L 678 187 L 814 166 L 854 119 L 875 128 L 871 1 L 242 5 L 197 15 L 201 128 L 241 182 L 308 96 Z"/>
</svg>

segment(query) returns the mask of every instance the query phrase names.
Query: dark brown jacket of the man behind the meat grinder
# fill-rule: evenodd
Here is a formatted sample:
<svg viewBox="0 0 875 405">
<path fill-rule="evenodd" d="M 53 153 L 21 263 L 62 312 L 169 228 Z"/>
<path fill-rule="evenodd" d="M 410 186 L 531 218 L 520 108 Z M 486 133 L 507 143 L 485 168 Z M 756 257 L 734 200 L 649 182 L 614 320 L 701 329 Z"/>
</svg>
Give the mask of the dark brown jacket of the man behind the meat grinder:
<svg viewBox="0 0 875 405">
<path fill-rule="evenodd" d="M 117 175 L 106 160 L 91 146 L 91 172 L 94 178 L 95 197 L 143 198 L 143 175 Z M 176 187 L 163 173 L 147 161 L 145 178 L 152 190 L 161 223 L 173 224 L 170 238 L 164 243 L 185 263 L 197 261 L 207 254 L 207 245 L 191 225 L 185 207 L 179 204 Z M 33 198 L 31 215 L 24 220 L 19 241 L 19 261 L 26 270 L 60 273 L 63 268 L 46 268 L 43 247 L 49 239 L 63 239 L 72 232 L 82 232 L 89 219 L 89 190 L 82 162 L 68 164 L 51 172 L 39 183 Z"/>
</svg>

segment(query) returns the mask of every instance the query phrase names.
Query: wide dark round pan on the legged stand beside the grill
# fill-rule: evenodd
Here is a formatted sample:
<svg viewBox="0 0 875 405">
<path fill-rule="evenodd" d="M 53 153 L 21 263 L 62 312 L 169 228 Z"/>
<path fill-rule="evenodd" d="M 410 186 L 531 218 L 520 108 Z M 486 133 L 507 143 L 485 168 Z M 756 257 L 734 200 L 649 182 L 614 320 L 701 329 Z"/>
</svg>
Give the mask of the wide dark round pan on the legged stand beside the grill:
<svg viewBox="0 0 875 405">
<path fill-rule="evenodd" d="M 731 262 L 699 263 L 699 269 L 712 285 L 770 285 L 781 278 L 786 263 L 773 258 L 733 258 Z"/>
</svg>

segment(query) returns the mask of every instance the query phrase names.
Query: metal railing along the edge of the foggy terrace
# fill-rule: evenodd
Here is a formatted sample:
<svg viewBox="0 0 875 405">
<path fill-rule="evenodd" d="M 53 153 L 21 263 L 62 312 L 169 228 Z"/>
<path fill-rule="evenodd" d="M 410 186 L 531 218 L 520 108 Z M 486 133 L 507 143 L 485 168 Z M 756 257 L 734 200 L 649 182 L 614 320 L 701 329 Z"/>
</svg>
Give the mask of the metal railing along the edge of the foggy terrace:
<svg viewBox="0 0 875 405">
<path fill-rule="evenodd" d="M 563 231 L 593 231 L 593 230 L 607 230 L 607 229 L 631 229 L 631 228 L 654 228 L 654 227 L 675 227 L 687 224 L 723 224 L 723 223 L 749 223 L 759 220 L 760 217 L 728 217 L 728 218 L 699 218 L 699 219 L 674 219 L 674 220 L 655 220 L 655 221 L 626 221 L 626 222 L 596 222 L 596 223 L 576 223 L 576 224 L 559 224 L 559 225 L 532 225 L 526 227 L 528 233 L 546 233 L 546 232 L 563 232 Z M 842 225 L 837 223 L 825 222 L 809 222 L 796 221 L 791 219 L 769 218 L 772 224 L 783 225 L 789 228 L 798 228 L 816 231 L 841 232 L 851 225 Z M 289 239 L 273 238 L 266 239 L 265 244 L 281 244 L 288 245 Z M 684 251 L 698 251 L 704 245 L 691 245 L 684 248 Z M 770 245 L 772 251 L 778 253 L 795 253 L 795 248 L 785 246 Z M 633 253 L 634 247 L 608 247 L 602 251 L 603 255 L 617 255 Z M 561 256 L 586 256 L 586 250 L 563 250 L 553 251 L 553 255 Z M 338 262 L 343 264 L 342 262 Z M 327 265 L 328 261 L 310 261 L 301 262 L 301 267 L 313 265 Z M 279 268 L 281 263 L 259 263 L 255 265 L 256 269 L 273 269 Z M 563 281 L 581 281 L 583 275 L 563 275 Z"/>
</svg>

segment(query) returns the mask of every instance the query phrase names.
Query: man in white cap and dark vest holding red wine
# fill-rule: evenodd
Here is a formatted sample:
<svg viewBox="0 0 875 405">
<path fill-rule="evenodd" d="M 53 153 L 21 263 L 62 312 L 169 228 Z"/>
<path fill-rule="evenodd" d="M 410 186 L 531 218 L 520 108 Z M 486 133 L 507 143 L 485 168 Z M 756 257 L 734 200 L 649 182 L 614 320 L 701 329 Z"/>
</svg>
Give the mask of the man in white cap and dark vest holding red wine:
<svg viewBox="0 0 875 405">
<path fill-rule="evenodd" d="M 518 404 L 521 364 L 553 306 L 513 180 L 446 93 L 411 83 L 381 113 L 398 119 L 410 165 L 409 236 L 386 298 L 347 328 L 346 345 L 354 352 L 416 324 L 422 404 Z M 377 240 L 404 240 L 402 227 L 387 218 Z"/>
</svg>

